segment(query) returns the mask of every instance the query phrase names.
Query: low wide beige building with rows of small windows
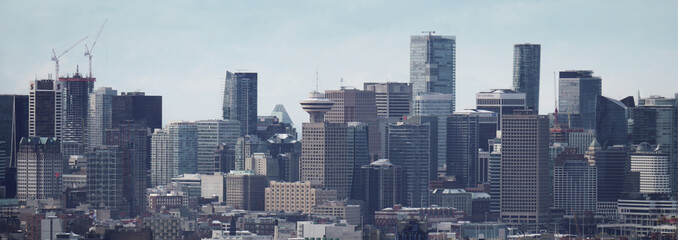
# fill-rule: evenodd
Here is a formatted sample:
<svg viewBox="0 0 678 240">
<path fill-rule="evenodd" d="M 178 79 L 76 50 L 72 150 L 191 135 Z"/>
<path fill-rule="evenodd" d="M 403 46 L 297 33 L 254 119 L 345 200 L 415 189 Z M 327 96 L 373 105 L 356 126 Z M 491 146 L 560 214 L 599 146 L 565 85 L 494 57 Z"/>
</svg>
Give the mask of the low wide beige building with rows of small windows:
<svg viewBox="0 0 678 240">
<path fill-rule="evenodd" d="M 266 211 L 301 211 L 309 214 L 318 204 L 336 199 L 336 190 L 324 190 L 308 181 L 293 183 L 271 181 L 266 188 Z"/>
</svg>

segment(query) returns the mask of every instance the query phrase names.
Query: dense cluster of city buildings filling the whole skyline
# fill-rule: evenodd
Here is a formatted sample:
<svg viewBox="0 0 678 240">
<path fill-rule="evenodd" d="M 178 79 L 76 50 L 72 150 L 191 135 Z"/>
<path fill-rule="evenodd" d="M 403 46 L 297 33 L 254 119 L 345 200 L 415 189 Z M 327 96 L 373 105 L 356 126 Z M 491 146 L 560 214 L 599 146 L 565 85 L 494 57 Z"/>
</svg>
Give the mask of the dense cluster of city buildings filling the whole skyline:
<svg viewBox="0 0 678 240">
<path fill-rule="evenodd" d="M 513 89 L 456 109 L 454 36 L 411 37 L 410 83 L 318 89 L 258 115 L 227 72 L 222 119 L 162 126 L 162 97 L 79 73 L 0 95 L 0 229 L 45 239 L 504 239 L 675 236 L 678 94 L 616 100 L 559 73 L 540 115 L 541 47 Z M 533 235 L 530 235 L 533 236 Z"/>
</svg>

